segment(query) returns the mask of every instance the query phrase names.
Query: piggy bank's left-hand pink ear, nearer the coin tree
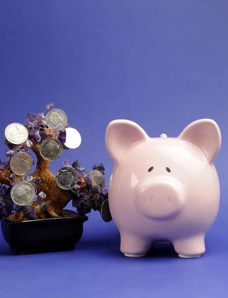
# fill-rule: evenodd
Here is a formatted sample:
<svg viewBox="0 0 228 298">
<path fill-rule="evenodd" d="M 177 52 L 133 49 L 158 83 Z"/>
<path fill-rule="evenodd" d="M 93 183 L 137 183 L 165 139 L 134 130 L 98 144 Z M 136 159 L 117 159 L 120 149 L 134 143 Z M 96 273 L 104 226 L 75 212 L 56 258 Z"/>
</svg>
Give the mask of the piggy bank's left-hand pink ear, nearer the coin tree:
<svg viewBox="0 0 228 298">
<path fill-rule="evenodd" d="M 114 120 L 107 127 L 105 144 L 114 162 L 118 162 L 131 146 L 149 137 L 136 123 L 129 120 Z"/>
</svg>

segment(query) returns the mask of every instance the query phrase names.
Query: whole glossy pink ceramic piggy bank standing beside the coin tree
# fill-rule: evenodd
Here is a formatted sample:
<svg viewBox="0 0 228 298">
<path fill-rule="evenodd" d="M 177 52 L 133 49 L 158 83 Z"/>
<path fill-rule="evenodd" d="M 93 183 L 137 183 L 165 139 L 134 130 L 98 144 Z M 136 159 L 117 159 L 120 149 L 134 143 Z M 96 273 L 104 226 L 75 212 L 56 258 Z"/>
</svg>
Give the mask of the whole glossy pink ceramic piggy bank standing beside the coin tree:
<svg viewBox="0 0 228 298">
<path fill-rule="evenodd" d="M 107 128 L 106 147 L 114 161 L 109 205 L 120 250 L 139 257 L 152 242 L 169 241 L 180 257 L 200 257 L 219 211 L 216 122 L 195 121 L 177 138 L 150 138 L 136 123 L 115 120 Z"/>
</svg>

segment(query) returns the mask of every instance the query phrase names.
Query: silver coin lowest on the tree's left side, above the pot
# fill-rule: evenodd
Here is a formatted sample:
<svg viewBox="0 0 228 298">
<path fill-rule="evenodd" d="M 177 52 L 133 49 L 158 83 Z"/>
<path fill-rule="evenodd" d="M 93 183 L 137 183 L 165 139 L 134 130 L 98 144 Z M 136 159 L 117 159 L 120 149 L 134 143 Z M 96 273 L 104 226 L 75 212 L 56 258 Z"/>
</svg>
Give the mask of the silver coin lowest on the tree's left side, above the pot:
<svg viewBox="0 0 228 298">
<path fill-rule="evenodd" d="M 14 203 L 25 206 L 32 203 L 36 193 L 34 187 L 30 183 L 21 181 L 13 185 L 10 195 Z"/>
</svg>

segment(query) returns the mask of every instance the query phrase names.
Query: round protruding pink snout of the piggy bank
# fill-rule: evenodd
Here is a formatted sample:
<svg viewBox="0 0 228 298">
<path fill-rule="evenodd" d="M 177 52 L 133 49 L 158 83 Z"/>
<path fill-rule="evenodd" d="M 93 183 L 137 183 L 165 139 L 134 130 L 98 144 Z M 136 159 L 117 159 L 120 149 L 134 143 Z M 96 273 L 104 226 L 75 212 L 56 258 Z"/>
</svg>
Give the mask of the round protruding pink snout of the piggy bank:
<svg viewBox="0 0 228 298">
<path fill-rule="evenodd" d="M 138 186 L 136 204 L 142 213 L 152 218 L 175 216 L 184 205 L 184 187 L 170 177 L 152 178 Z"/>
</svg>

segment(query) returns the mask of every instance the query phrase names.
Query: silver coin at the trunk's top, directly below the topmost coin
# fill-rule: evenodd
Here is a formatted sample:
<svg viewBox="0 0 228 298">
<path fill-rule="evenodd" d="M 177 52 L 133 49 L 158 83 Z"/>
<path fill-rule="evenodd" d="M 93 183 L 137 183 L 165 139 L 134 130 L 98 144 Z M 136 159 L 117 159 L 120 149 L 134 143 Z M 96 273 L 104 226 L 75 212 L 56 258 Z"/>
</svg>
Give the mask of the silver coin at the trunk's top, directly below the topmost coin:
<svg viewBox="0 0 228 298">
<path fill-rule="evenodd" d="M 47 138 L 40 144 L 40 153 L 47 160 L 56 160 L 62 154 L 62 144 L 55 138 Z"/>
</svg>

